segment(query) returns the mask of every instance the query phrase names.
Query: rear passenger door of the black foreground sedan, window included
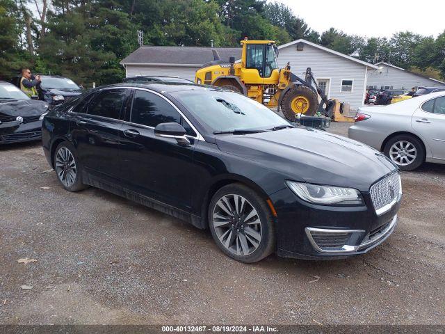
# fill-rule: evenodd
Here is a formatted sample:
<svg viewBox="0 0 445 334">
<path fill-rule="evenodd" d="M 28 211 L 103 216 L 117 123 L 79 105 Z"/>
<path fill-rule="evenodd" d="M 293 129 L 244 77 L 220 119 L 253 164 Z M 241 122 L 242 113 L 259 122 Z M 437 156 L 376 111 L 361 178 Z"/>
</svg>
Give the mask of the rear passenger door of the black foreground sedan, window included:
<svg viewBox="0 0 445 334">
<path fill-rule="evenodd" d="M 120 175 L 120 129 L 130 89 L 104 89 L 73 109 L 72 141 L 88 173 L 99 177 Z"/>
</svg>

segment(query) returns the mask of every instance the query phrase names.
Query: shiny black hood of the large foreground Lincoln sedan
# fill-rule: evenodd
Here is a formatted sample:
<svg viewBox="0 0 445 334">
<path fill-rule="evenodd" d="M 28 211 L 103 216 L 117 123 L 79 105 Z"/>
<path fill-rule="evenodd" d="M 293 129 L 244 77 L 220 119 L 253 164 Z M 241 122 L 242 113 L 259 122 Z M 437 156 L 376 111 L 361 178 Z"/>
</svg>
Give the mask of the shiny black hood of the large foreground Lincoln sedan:
<svg viewBox="0 0 445 334">
<path fill-rule="evenodd" d="M 223 152 L 256 161 L 288 180 L 349 186 L 360 191 L 398 168 L 383 154 L 343 136 L 307 127 L 220 135 Z"/>
</svg>

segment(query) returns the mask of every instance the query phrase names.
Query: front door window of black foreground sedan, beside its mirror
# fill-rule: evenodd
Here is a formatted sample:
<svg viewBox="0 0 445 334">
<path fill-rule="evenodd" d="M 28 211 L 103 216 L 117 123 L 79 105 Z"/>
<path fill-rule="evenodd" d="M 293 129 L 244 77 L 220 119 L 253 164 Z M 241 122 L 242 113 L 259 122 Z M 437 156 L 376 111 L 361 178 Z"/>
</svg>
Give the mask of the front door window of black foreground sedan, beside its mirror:
<svg viewBox="0 0 445 334">
<path fill-rule="evenodd" d="M 160 123 L 177 122 L 186 129 L 187 134 L 196 135 L 170 103 L 145 90 L 136 90 L 134 94 L 130 121 L 148 127 L 156 127 Z"/>
</svg>

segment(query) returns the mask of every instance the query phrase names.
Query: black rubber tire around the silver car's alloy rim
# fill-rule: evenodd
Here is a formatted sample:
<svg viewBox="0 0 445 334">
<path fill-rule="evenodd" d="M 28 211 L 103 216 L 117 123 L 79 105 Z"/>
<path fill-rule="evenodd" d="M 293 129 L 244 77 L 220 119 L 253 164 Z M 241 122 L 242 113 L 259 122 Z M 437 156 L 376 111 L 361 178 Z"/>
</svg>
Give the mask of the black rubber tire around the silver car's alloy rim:
<svg viewBox="0 0 445 334">
<path fill-rule="evenodd" d="M 398 162 L 401 161 L 397 158 L 397 156 L 394 154 L 394 150 L 400 145 L 406 146 L 405 143 L 410 143 L 412 146 L 408 146 L 408 148 L 415 148 L 415 151 L 407 152 L 408 150 L 405 150 L 403 154 L 413 154 L 415 152 L 415 158 L 412 159 L 412 157 L 406 157 L 402 160 L 402 163 Z M 391 150 L 392 148 L 392 150 Z M 412 150 L 412 149 L 411 149 Z M 392 138 L 389 138 L 389 141 L 385 144 L 385 148 L 383 149 L 383 152 L 385 155 L 393 161 L 401 170 L 414 170 L 416 168 L 419 168 L 423 162 L 425 161 L 426 152 L 425 148 L 423 147 L 423 143 L 416 138 L 415 136 L 411 136 L 410 134 L 399 134 L 397 136 L 394 136 Z M 407 159 L 412 159 L 409 164 L 407 164 Z"/>
</svg>

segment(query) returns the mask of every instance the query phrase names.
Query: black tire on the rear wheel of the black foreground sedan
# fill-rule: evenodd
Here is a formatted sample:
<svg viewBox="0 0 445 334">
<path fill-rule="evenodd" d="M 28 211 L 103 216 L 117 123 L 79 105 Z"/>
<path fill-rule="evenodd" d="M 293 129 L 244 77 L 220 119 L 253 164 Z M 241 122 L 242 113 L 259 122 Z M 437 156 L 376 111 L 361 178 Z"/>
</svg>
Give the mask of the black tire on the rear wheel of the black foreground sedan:
<svg viewBox="0 0 445 334">
<path fill-rule="evenodd" d="M 74 160 L 74 166 L 75 166 L 74 182 L 72 182 L 72 179 L 70 179 L 69 182 L 66 182 L 67 179 L 66 177 L 64 179 L 63 176 L 66 175 L 67 173 L 62 171 L 60 174 L 60 168 L 58 167 L 60 163 L 60 157 L 58 157 L 58 153 L 60 152 L 61 154 L 62 150 L 63 152 L 66 152 L 66 150 L 68 150 L 70 154 L 72 154 L 72 159 Z M 83 184 L 82 182 L 82 166 L 79 161 L 79 158 L 77 157 L 76 149 L 71 143 L 64 141 L 63 143 L 58 144 L 56 150 L 54 151 L 53 164 L 54 164 L 54 170 L 56 170 L 57 180 L 65 190 L 79 191 L 88 188 L 88 185 Z"/>
</svg>

